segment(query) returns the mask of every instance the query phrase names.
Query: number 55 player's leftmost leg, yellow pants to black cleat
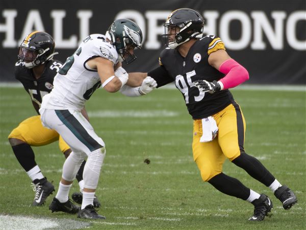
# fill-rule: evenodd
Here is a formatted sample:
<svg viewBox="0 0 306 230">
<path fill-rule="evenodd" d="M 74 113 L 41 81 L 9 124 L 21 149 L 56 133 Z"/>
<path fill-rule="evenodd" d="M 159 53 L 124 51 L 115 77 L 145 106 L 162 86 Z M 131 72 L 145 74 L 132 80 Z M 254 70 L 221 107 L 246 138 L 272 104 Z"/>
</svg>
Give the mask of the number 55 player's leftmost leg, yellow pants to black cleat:
<svg viewBox="0 0 306 230">
<path fill-rule="evenodd" d="M 57 139 L 58 134 L 55 131 L 41 125 L 40 116 L 24 120 L 9 135 L 9 142 L 19 164 L 33 181 L 32 185 L 35 191 L 33 206 L 43 204 L 55 190 L 36 164 L 31 146 L 47 145 Z"/>
</svg>

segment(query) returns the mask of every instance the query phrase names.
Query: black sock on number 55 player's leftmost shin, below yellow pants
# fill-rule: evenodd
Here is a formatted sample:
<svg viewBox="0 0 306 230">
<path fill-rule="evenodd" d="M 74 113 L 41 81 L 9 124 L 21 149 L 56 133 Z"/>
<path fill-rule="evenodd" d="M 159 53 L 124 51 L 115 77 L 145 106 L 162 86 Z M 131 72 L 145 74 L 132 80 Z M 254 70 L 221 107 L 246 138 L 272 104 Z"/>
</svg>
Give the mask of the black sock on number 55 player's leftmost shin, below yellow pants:
<svg viewBox="0 0 306 230">
<path fill-rule="evenodd" d="M 19 164 L 22 166 L 25 172 L 28 172 L 35 166 L 37 166 L 35 162 L 34 152 L 29 144 L 24 143 L 20 145 L 15 145 L 12 146 L 12 149 Z"/>
</svg>

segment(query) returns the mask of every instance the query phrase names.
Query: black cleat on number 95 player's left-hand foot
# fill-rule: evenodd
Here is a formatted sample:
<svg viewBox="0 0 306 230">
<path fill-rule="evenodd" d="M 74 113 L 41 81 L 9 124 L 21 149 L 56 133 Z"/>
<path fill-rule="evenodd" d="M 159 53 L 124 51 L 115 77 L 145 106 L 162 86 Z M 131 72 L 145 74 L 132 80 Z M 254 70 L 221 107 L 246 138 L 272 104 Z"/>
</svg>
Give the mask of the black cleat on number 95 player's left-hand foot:
<svg viewBox="0 0 306 230">
<path fill-rule="evenodd" d="M 272 201 L 265 194 L 261 194 L 260 197 L 252 202 L 255 206 L 254 214 L 249 218 L 251 221 L 262 221 L 267 216 L 268 212 L 273 208 Z"/>
</svg>

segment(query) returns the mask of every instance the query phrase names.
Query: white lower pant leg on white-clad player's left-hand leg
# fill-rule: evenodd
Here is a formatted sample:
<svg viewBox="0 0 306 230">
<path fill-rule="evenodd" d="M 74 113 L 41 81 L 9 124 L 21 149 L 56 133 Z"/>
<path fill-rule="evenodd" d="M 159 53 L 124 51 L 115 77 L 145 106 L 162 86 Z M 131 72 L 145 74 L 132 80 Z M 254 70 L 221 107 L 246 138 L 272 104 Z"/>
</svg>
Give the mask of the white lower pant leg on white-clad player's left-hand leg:
<svg viewBox="0 0 306 230">
<path fill-rule="evenodd" d="M 86 156 L 85 152 L 71 152 L 65 160 L 62 178 L 68 181 L 73 181 Z"/>
</svg>

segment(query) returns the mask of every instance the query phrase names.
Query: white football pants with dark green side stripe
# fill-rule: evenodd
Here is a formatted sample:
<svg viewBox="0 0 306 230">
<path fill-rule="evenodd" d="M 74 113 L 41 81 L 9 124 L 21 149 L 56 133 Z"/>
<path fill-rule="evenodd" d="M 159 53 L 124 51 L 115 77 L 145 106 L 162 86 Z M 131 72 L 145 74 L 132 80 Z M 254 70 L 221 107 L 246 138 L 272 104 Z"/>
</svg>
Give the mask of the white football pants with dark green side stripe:
<svg viewBox="0 0 306 230">
<path fill-rule="evenodd" d="M 43 126 L 56 130 L 72 150 L 63 166 L 63 179 L 73 181 L 88 156 L 83 172 L 84 187 L 96 189 L 106 154 L 104 141 L 80 111 L 41 108 L 39 112 Z"/>
</svg>

